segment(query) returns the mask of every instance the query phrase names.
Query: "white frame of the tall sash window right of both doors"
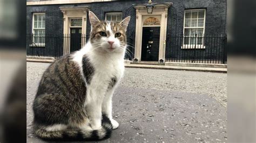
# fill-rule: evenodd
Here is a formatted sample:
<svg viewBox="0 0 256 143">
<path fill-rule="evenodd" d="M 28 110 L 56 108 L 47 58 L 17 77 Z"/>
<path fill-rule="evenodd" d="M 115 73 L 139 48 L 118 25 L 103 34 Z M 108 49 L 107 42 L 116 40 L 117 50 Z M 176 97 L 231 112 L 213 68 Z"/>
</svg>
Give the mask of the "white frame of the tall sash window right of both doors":
<svg viewBox="0 0 256 143">
<path fill-rule="evenodd" d="M 187 11 L 204 11 L 204 26 L 203 27 L 185 27 L 185 19 L 186 19 L 186 12 Z M 192 14 L 191 14 L 191 17 L 192 17 Z M 192 18 L 191 18 L 192 19 Z M 198 19 L 198 13 L 197 13 L 197 19 Z M 206 19 L 206 9 L 187 9 L 187 10 L 185 10 L 184 11 L 184 24 L 183 24 L 183 46 L 181 46 L 181 48 L 182 49 L 193 49 L 193 48 L 197 48 L 197 49 L 205 49 L 205 45 L 204 45 L 204 33 L 205 33 L 205 19 Z M 191 20 L 191 23 L 190 23 L 190 26 L 191 26 L 191 24 L 192 24 L 192 20 Z M 198 20 L 197 20 L 197 26 L 198 26 Z M 201 37 L 203 37 L 202 38 L 202 40 L 203 40 L 203 42 L 202 42 L 202 44 L 197 44 L 197 45 L 195 45 L 195 44 L 189 44 L 189 45 L 187 45 L 187 44 L 184 44 L 184 42 L 185 42 L 185 37 L 187 37 L 187 36 L 185 36 L 185 28 L 203 28 L 203 35 L 201 36 Z M 191 37 L 191 35 L 190 36 L 188 36 L 188 37 Z M 197 37 L 198 38 L 198 37 Z M 197 40 L 197 39 L 196 39 Z"/>
</svg>

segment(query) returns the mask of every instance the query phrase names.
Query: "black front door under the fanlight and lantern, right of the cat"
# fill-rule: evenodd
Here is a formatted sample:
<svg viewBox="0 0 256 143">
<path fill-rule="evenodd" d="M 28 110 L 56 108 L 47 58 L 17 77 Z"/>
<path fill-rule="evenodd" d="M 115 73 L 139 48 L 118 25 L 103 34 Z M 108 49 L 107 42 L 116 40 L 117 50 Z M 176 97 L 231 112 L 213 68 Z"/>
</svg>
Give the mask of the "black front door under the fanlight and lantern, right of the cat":
<svg viewBox="0 0 256 143">
<path fill-rule="evenodd" d="M 142 61 L 158 61 L 160 27 L 143 27 Z"/>
</svg>

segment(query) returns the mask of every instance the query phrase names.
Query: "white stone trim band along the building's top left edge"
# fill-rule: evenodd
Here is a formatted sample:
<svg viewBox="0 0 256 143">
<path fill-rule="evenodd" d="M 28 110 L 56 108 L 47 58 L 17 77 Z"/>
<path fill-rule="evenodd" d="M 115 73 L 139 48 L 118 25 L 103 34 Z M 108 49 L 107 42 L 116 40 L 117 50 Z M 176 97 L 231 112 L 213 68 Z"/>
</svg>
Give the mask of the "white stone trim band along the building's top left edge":
<svg viewBox="0 0 256 143">
<path fill-rule="evenodd" d="M 110 2 L 110 1 L 113 1 L 113 0 L 55 0 L 55 1 L 26 2 L 26 5 L 93 3 L 93 2 Z"/>
</svg>

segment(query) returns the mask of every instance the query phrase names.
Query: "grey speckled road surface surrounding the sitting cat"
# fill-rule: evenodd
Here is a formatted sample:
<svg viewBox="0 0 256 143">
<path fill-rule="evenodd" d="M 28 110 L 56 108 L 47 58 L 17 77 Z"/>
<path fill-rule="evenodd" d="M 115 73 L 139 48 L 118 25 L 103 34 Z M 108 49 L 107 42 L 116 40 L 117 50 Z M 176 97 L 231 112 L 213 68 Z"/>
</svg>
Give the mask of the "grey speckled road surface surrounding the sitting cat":
<svg viewBox="0 0 256 143">
<path fill-rule="evenodd" d="M 32 102 L 49 63 L 27 62 L 27 141 Z M 113 96 L 113 118 L 120 126 L 101 142 L 227 141 L 227 74 L 126 68 Z M 75 140 L 74 140 L 75 141 Z"/>
</svg>

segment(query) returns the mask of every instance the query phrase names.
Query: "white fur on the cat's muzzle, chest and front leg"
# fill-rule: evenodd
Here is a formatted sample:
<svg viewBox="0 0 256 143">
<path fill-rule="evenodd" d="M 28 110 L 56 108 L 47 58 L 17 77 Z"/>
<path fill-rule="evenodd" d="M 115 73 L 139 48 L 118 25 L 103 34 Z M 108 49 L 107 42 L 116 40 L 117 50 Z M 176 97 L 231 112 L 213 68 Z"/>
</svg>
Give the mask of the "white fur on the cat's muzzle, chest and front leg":
<svg viewBox="0 0 256 143">
<path fill-rule="evenodd" d="M 104 96 L 112 96 L 106 95 L 107 90 L 111 79 L 116 78 L 118 84 L 119 80 L 122 78 L 124 73 L 124 54 L 125 49 L 119 47 L 119 40 L 114 38 L 114 33 L 111 30 L 111 25 L 106 25 L 106 31 L 109 31 L 110 37 L 95 41 L 93 44 L 90 41 L 86 44 L 86 46 L 73 54 L 73 61 L 75 61 L 80 69 L 80 73 L 82 74 L 84 81 L 86 83 L 85 77 L 83 75 L 83 56 L 86 54 L 87 58 L 89 58 L 92 67 L 94 68 L 94 73 L 91 78 L 90 84 L 86 84 L 86 99 L 84 102 L 84 107 L 88 117 L 90 118 L 90 124 L 93 129 L 98 129 L 101 125 L 101 110 L 102 105 L 104 104 Z M 104 48 L 105 46 L 109 46 L 107 41 L 114 41 L 113 47 L 117 46 L 119 48 L 119 52 L 107 52 Z M 102 45 L 99 47 L 99 45 Z M 94 46 L 94 47 L 93 47 Z M 116 87 L 114 85 L 113 88 Z M 112 108 L 108 106 L 107 108 Z M 110 110 L 111 112 L 111 110 Z M 114 123 L 114 127 L 118 126 L 118 123 Z M 104 130 L 104 129 L 102 129 Z M 99 132 L 100 133 L 100 132 Z M 99 134 L 99 136 L 104 137 L 104 131 Z"/>
</svg>

